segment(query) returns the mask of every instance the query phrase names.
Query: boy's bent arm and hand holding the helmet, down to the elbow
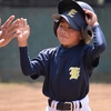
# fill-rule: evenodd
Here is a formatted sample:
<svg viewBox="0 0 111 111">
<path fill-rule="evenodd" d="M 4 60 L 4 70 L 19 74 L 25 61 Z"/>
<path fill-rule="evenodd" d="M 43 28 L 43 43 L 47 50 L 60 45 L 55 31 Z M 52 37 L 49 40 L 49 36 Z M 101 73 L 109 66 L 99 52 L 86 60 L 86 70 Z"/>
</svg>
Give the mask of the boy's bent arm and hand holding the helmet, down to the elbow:
<svg viewBox="0 0 111 111">
<path fill-rule="evenodd" d="M 97 14 L 92 11 L 84 10 L 85 14 L 89 16 L 89 18 L 85 16 L 87 23 L 92 27 L 93 30 L 93 49 L 91 52 L 92 59 L 98 58 L 105 49 L 107 42 L 104 39 L 104 34 L 98 23 Z"/>
</svg>

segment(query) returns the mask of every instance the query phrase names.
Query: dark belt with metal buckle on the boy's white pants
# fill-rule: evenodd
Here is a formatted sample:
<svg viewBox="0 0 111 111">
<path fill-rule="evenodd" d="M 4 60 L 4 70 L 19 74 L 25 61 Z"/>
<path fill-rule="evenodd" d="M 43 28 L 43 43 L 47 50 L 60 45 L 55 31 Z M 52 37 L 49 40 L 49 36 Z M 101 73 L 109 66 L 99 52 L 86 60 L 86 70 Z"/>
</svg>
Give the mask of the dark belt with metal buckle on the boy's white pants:
<svg viewBox="0 0 111 111">
<path fill-rule="evenodd" d="M 49 107 L 51 107 L 52 101 L 53 100 L 51 100 L 51 99 L 48 100 Z M 82 108 L 81 102 L 79 102 L 79 108 Z M 75 108 L 74 108 L 73 102 L 58 102 L 56 109 L 57 110 L 70 110 L 70 111 L 73 111 Z"/>
</svg>

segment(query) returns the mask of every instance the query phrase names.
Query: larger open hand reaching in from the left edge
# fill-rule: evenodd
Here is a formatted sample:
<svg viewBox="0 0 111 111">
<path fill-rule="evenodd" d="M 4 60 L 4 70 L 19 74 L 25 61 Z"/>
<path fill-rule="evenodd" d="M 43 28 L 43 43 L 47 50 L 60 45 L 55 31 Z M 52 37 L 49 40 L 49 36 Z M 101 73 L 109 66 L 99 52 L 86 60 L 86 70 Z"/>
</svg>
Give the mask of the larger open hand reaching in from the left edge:
<svg viewBox="0 0 111 111">
<path fill-rule="evenodd" d="M 19 33 L 18 31 L 18 22 L 19 19 L 14 20 L 14 16 L 11 16 L 1 27 L 0 27 L 0 47 L 7 46 L 13 38 L 16 38 Z M 1 20 L 0 20 L 1 23 Z"/>
</svg>

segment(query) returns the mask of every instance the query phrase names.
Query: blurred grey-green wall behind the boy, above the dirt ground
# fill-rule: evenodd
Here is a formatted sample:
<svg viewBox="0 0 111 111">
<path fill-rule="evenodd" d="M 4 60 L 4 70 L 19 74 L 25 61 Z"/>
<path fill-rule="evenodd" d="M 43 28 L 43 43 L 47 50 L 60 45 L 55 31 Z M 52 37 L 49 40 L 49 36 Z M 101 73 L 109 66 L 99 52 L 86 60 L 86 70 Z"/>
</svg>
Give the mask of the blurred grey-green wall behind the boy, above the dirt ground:
<svg viewBox="0 0 111 111">
<path fill-rule="evenodd" d="M 26 18 L 31 28 L 29 53 L 31 58 L 50 47 L 59 46 L 53 34 L 53 19 L 59 0 L 0 0 L 2 23 L 11 16 Z M 78 0 L 77 0 L 78 1 Z M 94 70 L 92 82 L 111 82 L 111 0 L 81 0 L 88 2 L 98 14 L 99 23 L 107 39 L 107 50 L 101 54 L 100 64 Z M 13 39 L 7 47 L 0 48 L 0 82 L 34 82 L 24 77 L 20 69 L 18 42 Z M 42 81 L 39 78 L 38 81 Z M 36 80 L 37 81 L 37 80 Z"/>
</svg>

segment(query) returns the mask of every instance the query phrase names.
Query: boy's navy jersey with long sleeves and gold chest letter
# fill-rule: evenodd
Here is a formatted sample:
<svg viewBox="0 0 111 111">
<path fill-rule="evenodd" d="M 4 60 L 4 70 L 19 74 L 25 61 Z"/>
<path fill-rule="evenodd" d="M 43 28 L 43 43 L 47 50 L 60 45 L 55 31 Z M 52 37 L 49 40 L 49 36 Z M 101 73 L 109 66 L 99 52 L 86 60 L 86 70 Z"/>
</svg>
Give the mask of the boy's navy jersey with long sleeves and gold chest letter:
<svg viewBox="0 0 111 111">
<path fill-rule="evenodd" d="M 20 48 L 22 72 L 32 79 L 43 75 L 43 94 L 51 99 L 74 101 L 84 98 L 89 92 L 89 78 L 105 49 L 100 26 L 93 28 L 93 46 L 79 43 L 72 48 L 49 48 L 32 60 L 28 47 Z"/>
</svg>

